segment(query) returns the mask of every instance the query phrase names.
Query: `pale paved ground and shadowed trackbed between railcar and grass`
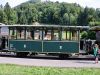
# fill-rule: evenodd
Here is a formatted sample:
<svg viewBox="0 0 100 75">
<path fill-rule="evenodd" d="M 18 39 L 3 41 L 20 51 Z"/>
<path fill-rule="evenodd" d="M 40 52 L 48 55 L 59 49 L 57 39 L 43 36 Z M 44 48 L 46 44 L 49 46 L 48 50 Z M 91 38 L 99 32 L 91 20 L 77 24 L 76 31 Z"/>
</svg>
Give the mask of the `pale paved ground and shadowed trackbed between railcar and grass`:
<svg viewBox="0 0 100 75">
<path fill-rule="evenodd" d="M 46 67 L 89 67 L 100 68 L 100 62 L 95 64 L 93 56 L 78 56 L 61 60 L 57 57 L 50 56 L 35 56 L 27 58 L 16 58 L 15 56 L 0 56 L 1 64 L 17 64 L 28 66 L 46 66 Z"/>
</svg>

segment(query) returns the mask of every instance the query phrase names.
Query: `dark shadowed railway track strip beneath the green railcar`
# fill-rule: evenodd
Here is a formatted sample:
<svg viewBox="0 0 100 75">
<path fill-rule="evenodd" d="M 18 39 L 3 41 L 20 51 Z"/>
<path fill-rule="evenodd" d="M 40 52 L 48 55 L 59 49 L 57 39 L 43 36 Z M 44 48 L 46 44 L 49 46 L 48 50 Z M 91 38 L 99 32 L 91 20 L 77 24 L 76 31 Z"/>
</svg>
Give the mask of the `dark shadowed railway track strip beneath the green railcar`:
<svg viewBox="0 0 100 75">
<path fill-rule="evenodd" d="M 12 58 L 20 58 L 16 57 L 16 54 L 13 52 L 0 52 L 1 57 L 12 57 Z M 52 60 L 94 60 L 93 55 L 74 55 L 69 58 L 60 59 L 58 56 L 48 56 L 45 54 L 39 54 L 39 55 L 32 55 L 27 57 L 21 57 L 21 58 L 29 58 L 29 59 L 52 59 Z"/>
</svg>

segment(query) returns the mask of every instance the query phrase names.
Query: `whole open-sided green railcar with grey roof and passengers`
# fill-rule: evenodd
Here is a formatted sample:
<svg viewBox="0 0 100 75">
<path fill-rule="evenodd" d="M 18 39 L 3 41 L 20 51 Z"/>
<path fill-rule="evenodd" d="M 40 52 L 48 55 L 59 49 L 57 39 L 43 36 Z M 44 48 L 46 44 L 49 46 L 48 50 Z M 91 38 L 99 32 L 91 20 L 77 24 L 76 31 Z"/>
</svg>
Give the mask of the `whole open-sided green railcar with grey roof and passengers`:
<svg viewBox="0 0 100 75">
<path fill-rule="evenodd" d="M 62 25 L 3 25 L 7 28 L 5 47 L 17 56 L 28 54 L 52 54 L 60 57 L 68 56 L 80 51 L 80 31 L 88 26 Z M 4 31 L 5 32 L 5 31 Z"/>
</svg>

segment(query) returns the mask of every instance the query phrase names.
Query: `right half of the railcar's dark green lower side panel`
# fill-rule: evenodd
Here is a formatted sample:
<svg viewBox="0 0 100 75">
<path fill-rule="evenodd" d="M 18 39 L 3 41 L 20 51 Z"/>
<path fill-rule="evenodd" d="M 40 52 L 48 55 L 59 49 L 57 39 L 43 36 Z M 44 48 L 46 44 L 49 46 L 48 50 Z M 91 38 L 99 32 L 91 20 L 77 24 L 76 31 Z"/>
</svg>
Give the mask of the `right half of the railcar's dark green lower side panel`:
<svg viewBox="0 0 100 75">
<path fill-rule="evenodd" d="M 79 43 L 75 41 L 44 41 L 43 52 L 78 53 Z"/>
</svg>

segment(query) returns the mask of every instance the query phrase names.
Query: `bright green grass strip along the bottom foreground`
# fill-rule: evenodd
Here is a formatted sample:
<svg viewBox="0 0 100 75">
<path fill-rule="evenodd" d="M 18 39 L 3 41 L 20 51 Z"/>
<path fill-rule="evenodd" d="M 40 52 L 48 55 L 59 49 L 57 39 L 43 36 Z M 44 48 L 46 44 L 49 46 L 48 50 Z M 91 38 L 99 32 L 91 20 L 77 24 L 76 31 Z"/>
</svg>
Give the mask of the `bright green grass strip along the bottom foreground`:
<svg viewBox="0 0 100 75">
<path fill-rule="evenodd" d="M 0 75 L 99 75 L 97 68 L 51 68 L 0 64 Z"/>
</svg>

